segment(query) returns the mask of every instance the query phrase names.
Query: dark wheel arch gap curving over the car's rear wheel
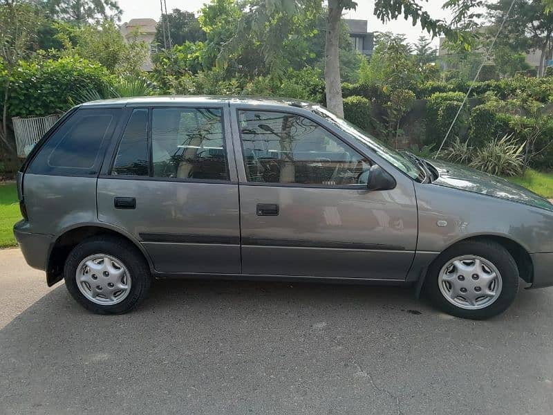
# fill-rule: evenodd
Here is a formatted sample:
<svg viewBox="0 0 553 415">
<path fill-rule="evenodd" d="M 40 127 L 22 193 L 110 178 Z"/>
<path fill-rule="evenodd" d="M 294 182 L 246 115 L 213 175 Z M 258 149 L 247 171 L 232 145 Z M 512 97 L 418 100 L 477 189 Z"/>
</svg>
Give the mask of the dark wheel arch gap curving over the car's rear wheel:
<svg viewBox="0 0 553 415">
<path fill-rule="evenodd" d="M 130 242 L 135 246 L 144 259 L 148 262 L 150 270 L 153 270 L 153 263 L 142 244 L 124 230 L 115 228 L 104 223 L 81 223 L 67 228 L 58 235 L 50 245 L 46 262 L 46 283 L 53 286 L 63 278 L 64 264 L 69 252 L 82 240 L 96 235 L 111 235 L 113 237 Z"/>
</svg>

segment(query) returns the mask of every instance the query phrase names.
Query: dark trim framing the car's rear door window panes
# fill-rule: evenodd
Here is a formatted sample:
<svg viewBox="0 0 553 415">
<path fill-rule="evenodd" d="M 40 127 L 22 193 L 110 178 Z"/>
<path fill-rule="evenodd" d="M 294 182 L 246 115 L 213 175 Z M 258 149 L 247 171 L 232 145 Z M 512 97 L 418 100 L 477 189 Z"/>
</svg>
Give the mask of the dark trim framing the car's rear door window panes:
<svg viewBox="0 0 553 415">
<path fill-rule="evenodd" d="M 228 106 L 228 104 L 227 104 Z M 231 163 L 229 158 L 234 157 L 234 152 L 232 154 L 229 154 L 228 151 L 228 140 L 232 140 L 232 137 L 229 138 L 229 129 L 227 129 L 227 126 L 225 125 L 227 113 L 225 111 L 225 105 L 207 105 L 207 106 L 198 106 L 197 104 L 190 103 L 188 105 L 144 105 L 144 106 L 136 106 L 136 107 L 126 107 L 127 110 L 130 110 L 127 114 L 127 119 L 124 124 L 124 127 L 122 127 L 121 131 L 119 131 L 119 137 L 117 140 L 117 143 L 115 147 L 113 148 L 112 154 L 111 154 L 111 161 L 109 163 L 109 169 L 106 170 L 106 172 L 103 172 L 100 174 L 100 178 L 111 178 L 111 179 L 121 179 L 121 180 L 138 180 L 138 181 L 165 181 L 165 182 L 175 182 L 175 183 L 206 183 L 206 184 L 232 184 L 236 185 L 238 184 L 238 181 L 232 180 L 232 175 L 230 172 Z M 117 157 L 120 142 L 123 138 L 124 131 L 126 130 L 126 126 L 131 120 L 131 115 L 135 109 L 147 109 L 148 110 L 148 122 L 147 122 L 147 140 L 148 140 L 148 157 L 149 157 L 149 163 L 148 163 L 148 176 L 133 176 L 128 174 L 117 174 L 112 175 L 112 169 L 113 165 L 115 164 L 115 158 Z M 223 149 L 225 150 L 225 157 L 227 158 L 227 176 L 228 180 L 217 180 L 217 179 L 203 179 L 203 178 L 176 178 L 176 177 L 155 177 L 153 176 L 153 140 L 152 140 L 152 127 L 153 127 L 153 110 L 154 109 L 188 109 L 188 110 L 194 110 L 194 109 L 216 109 L 218 111 L 221 111 L 221 129 L 223 133 Z"/>
</svg>

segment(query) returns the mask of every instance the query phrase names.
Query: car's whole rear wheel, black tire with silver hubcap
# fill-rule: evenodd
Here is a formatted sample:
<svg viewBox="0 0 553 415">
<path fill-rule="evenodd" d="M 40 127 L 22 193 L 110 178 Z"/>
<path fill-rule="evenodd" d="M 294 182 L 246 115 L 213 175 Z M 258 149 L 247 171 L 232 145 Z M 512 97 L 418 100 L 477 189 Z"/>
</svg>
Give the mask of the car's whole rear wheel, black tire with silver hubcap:
<svg viewBox="0 0 553 415">
<path fill-rule="evenodd" d="M 92 237 L 70 252 L 64 267 L 69 293 L 89 311 L 131 311 L 149 291 L 147 262 L 131 243 L 114 237 Z"/>
</svg>

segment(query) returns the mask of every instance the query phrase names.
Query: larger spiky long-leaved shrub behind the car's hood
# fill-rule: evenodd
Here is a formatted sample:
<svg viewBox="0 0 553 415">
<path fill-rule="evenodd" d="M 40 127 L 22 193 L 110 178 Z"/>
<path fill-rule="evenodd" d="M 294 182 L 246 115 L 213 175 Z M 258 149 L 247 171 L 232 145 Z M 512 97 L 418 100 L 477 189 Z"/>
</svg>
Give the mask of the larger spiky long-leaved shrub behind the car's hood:
<svg viewBox="0 0 553 415">
<path fill-rule="evenodd" d="M 496 176 L 517 176 L 523 172 L 525 145 L 508 135 L 494 138 L 474 151 L 470 167 Z"/>
</svg>

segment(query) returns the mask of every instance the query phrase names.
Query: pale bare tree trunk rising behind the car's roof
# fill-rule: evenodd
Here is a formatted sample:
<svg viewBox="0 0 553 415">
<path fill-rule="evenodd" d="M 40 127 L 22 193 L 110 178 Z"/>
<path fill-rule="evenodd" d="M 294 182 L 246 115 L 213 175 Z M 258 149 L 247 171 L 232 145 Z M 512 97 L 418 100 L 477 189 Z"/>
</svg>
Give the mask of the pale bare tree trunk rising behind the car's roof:
<svg viewBox="0 0 553 415">
<path fill-rule="evenodd" d="M 344 103 L 341 98 L 341 78 L 339 61 L 339 39 L 341 0 L 328 0 L 326 21 L 324 82 L 326 84 L 326 107 L 339 117 L 344 117 Z"/>
</svg>

